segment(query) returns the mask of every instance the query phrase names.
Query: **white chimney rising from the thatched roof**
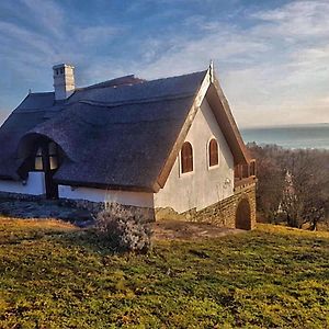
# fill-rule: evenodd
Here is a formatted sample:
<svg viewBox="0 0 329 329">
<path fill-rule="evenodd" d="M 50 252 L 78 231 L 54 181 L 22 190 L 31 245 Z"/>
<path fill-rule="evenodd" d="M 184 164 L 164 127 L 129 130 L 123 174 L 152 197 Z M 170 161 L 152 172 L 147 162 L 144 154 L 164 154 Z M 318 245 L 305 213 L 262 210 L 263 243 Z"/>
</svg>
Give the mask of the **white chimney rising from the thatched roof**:
<svg viewBox="0 0 329 329">
<path fill-rule="evenodd" d="M 53 67 L 55 100 L 66 100 L 75 92 L 75 67 L 59 64 Z"/>
</svg>

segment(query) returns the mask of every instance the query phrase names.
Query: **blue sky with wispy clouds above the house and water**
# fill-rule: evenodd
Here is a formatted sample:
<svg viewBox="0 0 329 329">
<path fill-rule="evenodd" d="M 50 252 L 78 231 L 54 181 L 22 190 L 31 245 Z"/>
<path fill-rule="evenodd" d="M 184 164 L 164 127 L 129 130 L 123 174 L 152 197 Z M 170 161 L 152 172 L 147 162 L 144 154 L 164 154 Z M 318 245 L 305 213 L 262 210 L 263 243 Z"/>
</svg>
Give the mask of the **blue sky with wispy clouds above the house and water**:
<svg viewBox="0 0 329 329">
<path fill-rule="evenodd" d="M 240 127 L 329 122 L 329 1 L 0 0 L 0 123 L 52 66 L 83 87 L 214 60 Z"/>
</svg>

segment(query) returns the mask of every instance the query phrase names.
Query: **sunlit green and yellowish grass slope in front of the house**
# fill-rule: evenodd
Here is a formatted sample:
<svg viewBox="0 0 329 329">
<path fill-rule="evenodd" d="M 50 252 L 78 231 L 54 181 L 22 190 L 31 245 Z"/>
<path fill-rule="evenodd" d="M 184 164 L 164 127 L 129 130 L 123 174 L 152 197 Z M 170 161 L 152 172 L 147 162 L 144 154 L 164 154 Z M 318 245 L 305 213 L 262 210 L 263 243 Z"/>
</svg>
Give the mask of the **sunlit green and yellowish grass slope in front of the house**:
<svg viewBox="0 0 329 329">
<path fill-rule="evenodd" d="M 329 234 L 259 225 L 111 253 L 60 222 L 0 219 L 0 328 L 329 328 Z"/>
</svg>

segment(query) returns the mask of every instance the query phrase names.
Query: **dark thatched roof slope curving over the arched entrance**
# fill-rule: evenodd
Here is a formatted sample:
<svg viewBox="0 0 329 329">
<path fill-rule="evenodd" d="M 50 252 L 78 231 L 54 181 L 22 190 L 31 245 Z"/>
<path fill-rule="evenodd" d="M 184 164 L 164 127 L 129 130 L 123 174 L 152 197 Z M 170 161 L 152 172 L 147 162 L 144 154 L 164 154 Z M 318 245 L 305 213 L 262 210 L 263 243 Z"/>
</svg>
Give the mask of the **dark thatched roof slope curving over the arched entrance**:
<svg viewBox="0 0 329 329">
<path fill-rule="evenodd" d="M 65 154 L 55 174 L 61 184 L 155 191 L 208 73 L 152 81 L 128 76 L 60 102 L 53 92 L 29 94 L 0 128 L 0 177 L 19 179 L 19 145 L 37 134 Z"/>
</svg>

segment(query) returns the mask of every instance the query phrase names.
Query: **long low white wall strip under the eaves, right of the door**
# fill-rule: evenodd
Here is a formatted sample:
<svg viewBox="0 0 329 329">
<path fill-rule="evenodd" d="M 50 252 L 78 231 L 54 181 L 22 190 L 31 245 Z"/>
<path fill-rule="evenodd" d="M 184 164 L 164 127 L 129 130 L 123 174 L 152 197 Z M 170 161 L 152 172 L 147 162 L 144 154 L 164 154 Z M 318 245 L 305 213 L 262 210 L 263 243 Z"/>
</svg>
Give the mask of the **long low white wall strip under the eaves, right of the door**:
<svg viewBox="0 0 329 329">
<path fill-rule="evenodd" d="M 93 202 L 116 202 L 124 205 L 140 207 L 154 206 L 154 194 L 145 192 L 128 192 L 101 190 L 91 188 L 58 186 L 59 197 L 71 200 L 88 200 Z"/>
</svg>

